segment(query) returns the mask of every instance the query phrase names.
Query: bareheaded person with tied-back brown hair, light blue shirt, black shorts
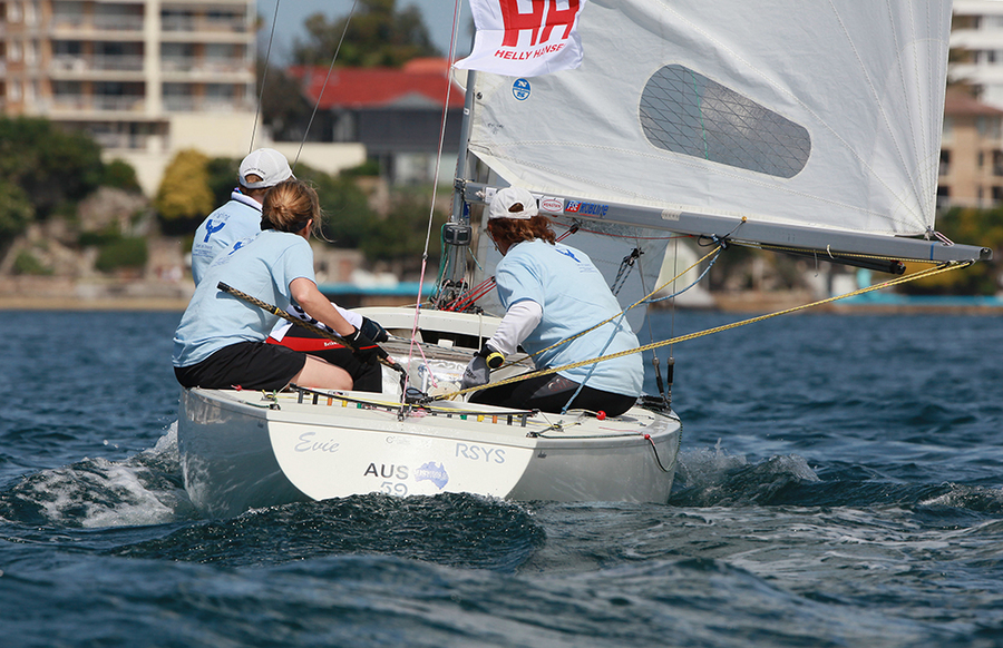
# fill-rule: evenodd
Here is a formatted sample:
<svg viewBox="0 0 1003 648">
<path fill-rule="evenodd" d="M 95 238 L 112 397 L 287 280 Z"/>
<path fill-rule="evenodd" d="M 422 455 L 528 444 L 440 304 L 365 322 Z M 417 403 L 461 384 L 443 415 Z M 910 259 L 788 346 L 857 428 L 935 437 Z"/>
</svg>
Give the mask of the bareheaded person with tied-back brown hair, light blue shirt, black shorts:
<svg viewBox="0 0 1003 648">
<path fill-rule="evenodd" d="M 294 301 L 347 338 L 359 363 L 373 364 L 379 347 L 350 324 L 317 288 L 308 243 L 320 218 L 317 192 L 289 179 L 264 199 L 263 230 L 246 245 L 216 256 L 174 334 L 174 373 L 185 387 L 350 390 L 349 371 L 313 355 L 265 342 L 279 317 L 221 292 L 220 282 L 280 308 Z"/>
</svg>

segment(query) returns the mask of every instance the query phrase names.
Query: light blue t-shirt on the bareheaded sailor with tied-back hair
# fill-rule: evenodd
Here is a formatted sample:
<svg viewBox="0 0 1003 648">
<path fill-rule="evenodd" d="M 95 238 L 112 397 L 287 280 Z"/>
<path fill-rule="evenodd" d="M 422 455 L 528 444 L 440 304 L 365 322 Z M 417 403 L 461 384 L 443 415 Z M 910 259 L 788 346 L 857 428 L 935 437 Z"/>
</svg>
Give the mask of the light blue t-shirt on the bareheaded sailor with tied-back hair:
<svg viewBox="0 0 1003 648">
<path fill-rule="evenodd" d="M 174 366 L 192 366 L 237 342 L 264 341 L 279 321 L 276 315 L 218 289 L 220 282 L 288 311 L 292 301 L 289 284 L 299 277 L 317 283 L 313 249 L 296 234 L 266 229 L 218 255 L 206 268 L 174 333 Z"/>
</svg>

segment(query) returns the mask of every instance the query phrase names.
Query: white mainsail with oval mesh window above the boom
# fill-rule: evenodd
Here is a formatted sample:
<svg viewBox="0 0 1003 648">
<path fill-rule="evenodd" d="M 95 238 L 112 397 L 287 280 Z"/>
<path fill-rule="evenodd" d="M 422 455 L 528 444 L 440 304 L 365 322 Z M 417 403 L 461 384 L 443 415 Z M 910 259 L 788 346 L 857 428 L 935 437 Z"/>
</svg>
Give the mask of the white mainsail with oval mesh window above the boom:
<svg viewBox="0 0 1003 648">
<path fill-rule="evenodd" d="M 578 69 L 476 75 L 468 148 L 507 184 L 597 205 L 566 216 L 708 216 L 717 235 L 744 218 L 740 238 L 873 253 L 796 234 L 932 230 L 950 24 L 944 0 L 591 0 Z"/>
</svg>

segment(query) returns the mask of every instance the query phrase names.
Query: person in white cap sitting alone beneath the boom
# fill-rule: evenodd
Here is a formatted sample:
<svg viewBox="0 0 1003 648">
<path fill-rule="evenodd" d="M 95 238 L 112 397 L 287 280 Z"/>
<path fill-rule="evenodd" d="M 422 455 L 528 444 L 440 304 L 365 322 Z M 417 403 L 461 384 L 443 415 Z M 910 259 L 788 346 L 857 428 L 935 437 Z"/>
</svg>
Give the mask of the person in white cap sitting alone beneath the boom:
<svg viewBox="0 0 1003 648">
<path fill-rule="evenodd" d="M 506 314 L 467 366 L 464 389 L 486 384 L 490 370 L 519 345 L 534 355 L 537 369 L 637 347 L 626 320 L 615 317 L 622 308 L 602 274 L 583 252 L 556 243 L 549 219 L 539 214 L 529 192 L 499 190 L 490 204 L 487 233 L 503 255 L 495 282 Z M 641 355 L 631 354 L 487 387 L 474 392 L 470 401 L 544 412 L 585 409 L 617 416 L 641 395 L 643 380 Z"/>
</svg>

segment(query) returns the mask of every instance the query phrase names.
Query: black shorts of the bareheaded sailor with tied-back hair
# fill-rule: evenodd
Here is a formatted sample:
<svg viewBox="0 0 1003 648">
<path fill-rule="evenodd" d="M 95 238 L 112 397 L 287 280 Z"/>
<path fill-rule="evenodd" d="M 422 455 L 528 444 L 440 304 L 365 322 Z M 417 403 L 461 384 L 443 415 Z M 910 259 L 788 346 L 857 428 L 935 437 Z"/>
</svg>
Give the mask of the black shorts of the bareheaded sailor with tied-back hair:
<svg viewBox="0 0 1003 648">
<path fill-rule="evenodd" d="M 281 390 L 302 371 L 306 354 L 264 342 L 224 346 L 197 364 L 174 367 L 183 387 Z"/>
</svg>

